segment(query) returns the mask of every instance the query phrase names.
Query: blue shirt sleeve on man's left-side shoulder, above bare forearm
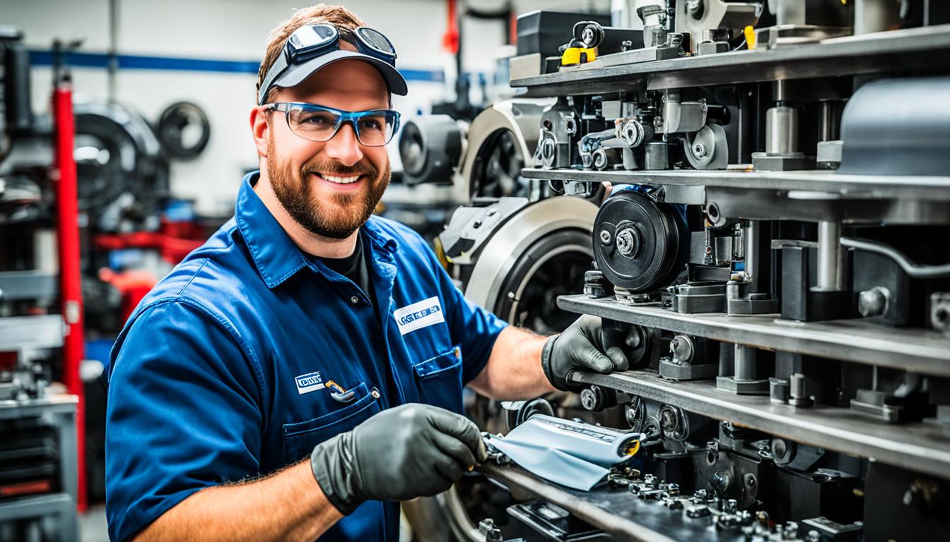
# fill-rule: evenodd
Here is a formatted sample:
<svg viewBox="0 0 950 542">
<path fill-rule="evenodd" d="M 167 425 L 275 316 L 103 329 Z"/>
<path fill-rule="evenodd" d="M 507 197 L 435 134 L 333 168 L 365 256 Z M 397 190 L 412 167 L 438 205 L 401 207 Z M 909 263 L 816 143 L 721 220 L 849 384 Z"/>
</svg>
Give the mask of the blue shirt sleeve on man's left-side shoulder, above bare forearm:
<svg viewBox="0 0 950 542">
<path fill-rule="evenodd" d="M 124 540 L 198 490 L 256 476 L 257 372 L 237 332 L 180 299 L 144 308 L 112 352 L 105 512 Z"/>
</svg>

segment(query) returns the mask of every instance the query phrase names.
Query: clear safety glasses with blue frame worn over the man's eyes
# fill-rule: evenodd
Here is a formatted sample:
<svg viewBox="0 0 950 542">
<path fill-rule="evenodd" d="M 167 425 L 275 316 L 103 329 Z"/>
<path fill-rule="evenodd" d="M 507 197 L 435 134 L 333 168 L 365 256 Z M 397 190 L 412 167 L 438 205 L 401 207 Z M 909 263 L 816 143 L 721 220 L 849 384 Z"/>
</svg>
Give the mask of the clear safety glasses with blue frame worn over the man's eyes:
<svg viewBox="0 0 950 542">
<path fill-rule="evenodd" d="M 315 103 L 269 103 L 267 109 L 282 111 L 287 126 L 305 140 L 330 140 L 344 122 L 350 122 L 360 144 L 381 147 L 399 129 L 399 113 L 392 109 L 343 111 Z"/>
</svg>

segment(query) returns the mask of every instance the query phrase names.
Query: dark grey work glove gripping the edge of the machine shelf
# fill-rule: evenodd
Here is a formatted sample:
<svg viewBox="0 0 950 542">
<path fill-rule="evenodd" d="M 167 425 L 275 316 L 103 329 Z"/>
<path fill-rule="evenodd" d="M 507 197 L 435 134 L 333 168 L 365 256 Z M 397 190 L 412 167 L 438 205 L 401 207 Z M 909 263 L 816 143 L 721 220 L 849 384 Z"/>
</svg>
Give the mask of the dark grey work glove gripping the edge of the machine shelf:
<svg viewBox="0 0 950 542">
<path fill-rule="evenodd" d="M 605 346 L 600 318 L 585 314 L 544 343 L 541 366 L 544 376 L 554 387 L 564 391 L 579 391 L 583 384 L 568 383 L 567 375 L 574 371 L 609 373 L 625 370 L 629 362 L 619 346 Z"/>
</svg>

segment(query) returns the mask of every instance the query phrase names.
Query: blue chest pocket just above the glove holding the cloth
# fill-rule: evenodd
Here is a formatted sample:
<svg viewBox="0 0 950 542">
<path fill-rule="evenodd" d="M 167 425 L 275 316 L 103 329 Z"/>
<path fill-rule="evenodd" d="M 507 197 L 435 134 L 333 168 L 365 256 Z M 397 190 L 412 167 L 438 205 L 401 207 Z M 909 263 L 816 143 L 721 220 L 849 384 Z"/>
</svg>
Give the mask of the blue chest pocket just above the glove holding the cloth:
<svg viewBox="0 0 950 542">
<path fill-rule="evenodd" d="M 360 383 L 352 388 L 353 400 L 341 403 L 341 407 L 313 420 L 284 423 L 284 443 L 287 449 L 288 463 L 295 463 L 310 456 L 314 446 L 350 431 L 361 422 L 366 421 L 373 414 L 380 411 L 379 392 L 376 388 L 370 389 L 366 383 Z M 321 393 L 330 393 L 325 390 Z"/>
</svg>

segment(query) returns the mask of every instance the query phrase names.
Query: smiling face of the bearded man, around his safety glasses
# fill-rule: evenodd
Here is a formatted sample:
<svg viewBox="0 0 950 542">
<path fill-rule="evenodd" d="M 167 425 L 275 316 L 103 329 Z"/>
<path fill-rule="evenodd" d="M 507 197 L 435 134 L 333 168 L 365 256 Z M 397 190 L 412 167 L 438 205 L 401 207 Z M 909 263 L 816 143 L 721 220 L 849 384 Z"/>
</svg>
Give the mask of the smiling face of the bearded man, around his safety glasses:
<svg viewBox="0 0 950 542">
<path fill-rule="evenodd" d="M 389 108 L 390 95 L 376 68 L 344 60 L 323 67 L 302 84 L 281 88 L 274 102 L 366 111 Z M 270 125 L 267 173 L 277 200 L 314 234 L 335 239 L 350 236 L 370 218 L 389 186 L 386 147 L 361 144 L 349 122 L 327 141 L 297 136 L 279 111 L 270 113 Z"/>
</svg>

